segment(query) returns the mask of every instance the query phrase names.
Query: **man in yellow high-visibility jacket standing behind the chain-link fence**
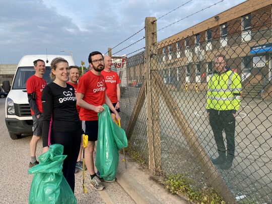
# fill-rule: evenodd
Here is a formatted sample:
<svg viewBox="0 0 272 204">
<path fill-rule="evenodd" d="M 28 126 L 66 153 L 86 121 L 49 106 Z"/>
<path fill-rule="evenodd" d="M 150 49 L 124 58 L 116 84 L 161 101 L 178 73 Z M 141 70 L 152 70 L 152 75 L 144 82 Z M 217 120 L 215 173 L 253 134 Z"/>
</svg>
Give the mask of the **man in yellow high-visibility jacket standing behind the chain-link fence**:
<svg viewBox="0 0 272 204">
<path fill-rule="evenodd" d="M 226 66 L 226 57 L 215 57 L 216 71 L 208 82 L 207 116 L 217 145 L 219 157 L 212 159 L 221 169 L 232 166 L 235 152 L 235 116 L 241 101 L 241 79 Z M 223 131 L 226 133 L 227 156 Z"/>
</svg>

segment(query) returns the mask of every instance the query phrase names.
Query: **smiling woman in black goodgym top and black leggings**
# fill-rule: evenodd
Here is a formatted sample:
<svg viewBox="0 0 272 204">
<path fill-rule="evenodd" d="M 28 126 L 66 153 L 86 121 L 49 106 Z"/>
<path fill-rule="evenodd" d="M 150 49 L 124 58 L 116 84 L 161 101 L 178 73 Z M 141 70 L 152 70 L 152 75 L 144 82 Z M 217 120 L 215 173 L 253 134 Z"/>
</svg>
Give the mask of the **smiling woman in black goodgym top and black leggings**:
<svg viewBox="0 0 272 204">
<path fill-rule="evenodd" d="M 76 109 L 76 96 L 73 86 L 67 84 L 69 64 L 61 57 L 51 62 L 51 79 L 42 93 L 42 143 L 43 152 L 50 144 L 63 145 L 63 176 L 71 189 L 75 190 L 75 168 L 81 144 L 81 124 Z"/>
</svg>

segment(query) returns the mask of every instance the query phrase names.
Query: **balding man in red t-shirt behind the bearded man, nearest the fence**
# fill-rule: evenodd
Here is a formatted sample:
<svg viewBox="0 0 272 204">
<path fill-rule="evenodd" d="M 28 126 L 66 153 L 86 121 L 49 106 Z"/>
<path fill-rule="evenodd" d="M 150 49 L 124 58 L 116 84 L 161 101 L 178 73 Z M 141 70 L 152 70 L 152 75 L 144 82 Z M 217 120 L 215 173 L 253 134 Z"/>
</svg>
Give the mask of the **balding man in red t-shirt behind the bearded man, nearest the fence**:
<svg viewBox="0 0 272 204">
<path fill-rule="evenodd" d="M 120 98 L 121 98 L 121 91 L 120 91 L 120 79 L 116 72 L 111 71 L 111 57 L 110 56 L 104 56 L 104 64 L 105 69 L 101 72 L 101 75 L 104 77 L 107 89 L 106 93 L 109 97 L 112 105 L 117 110 L 117 112 L 120 112 Z M 114 120 L 115 115 L 112 111 L 111 112 L 111 118 Z"/>
</svg>

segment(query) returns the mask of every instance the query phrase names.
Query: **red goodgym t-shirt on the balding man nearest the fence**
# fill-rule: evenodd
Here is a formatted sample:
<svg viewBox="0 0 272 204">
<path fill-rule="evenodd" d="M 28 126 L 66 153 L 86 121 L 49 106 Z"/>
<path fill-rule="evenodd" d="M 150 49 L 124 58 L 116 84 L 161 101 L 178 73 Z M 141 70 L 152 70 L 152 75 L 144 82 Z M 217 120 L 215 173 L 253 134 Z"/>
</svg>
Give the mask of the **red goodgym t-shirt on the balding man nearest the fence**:
<svg viewBox="0 0 272 204">
<path fill-rule="evenodd" d="M 107 85 L 107 89 L 106 89 L 107 96 L 109 97 L 112 103 L 117 103 L 116 85 L 120 84 L 121 82 L 117 73 L 113 71 L 105 72 L 103 70 L 101 72 L 101 75 L 104 76 L 104 79 Z"/>
</svg>

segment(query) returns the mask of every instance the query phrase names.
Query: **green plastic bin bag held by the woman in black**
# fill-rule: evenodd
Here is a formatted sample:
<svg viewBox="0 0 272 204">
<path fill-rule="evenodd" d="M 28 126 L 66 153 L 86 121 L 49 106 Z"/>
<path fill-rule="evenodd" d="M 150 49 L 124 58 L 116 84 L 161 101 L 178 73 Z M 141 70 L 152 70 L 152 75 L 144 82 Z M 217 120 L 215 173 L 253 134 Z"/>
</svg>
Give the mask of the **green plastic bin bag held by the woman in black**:
<svg viewBox="0 0 272 204">
<path fill-rule="evenodd" d="M 28 174 L 34 174 L 30 191 L 29 203 L 55 204 L 77 203 L 77 199 L 62 174 L 63 146 L 54 144 L 49 150 L 39 156 L 40 163 L 28 170 Z"/>
</svg>

